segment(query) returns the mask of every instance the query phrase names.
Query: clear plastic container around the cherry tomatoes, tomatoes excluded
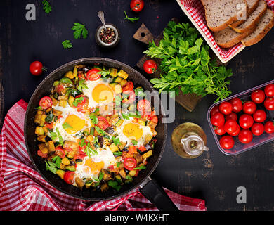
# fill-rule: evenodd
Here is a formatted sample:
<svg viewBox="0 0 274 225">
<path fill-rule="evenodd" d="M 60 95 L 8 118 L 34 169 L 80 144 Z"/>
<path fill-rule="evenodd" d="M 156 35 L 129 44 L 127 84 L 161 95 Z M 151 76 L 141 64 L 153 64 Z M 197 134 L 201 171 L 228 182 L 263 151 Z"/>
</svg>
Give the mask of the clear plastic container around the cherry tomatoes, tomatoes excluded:
<svg viewBox="0 0 274 225">
<path fill-rule="evenodd" d="M 247 150 L 251 150 L 253 148 L 256 148 L 258 146 L 263 145 L 264 143 L 268 143 L 269 141 L 274 141 L 274 133 L 273 134 L 268 134 L 266 133 L 266 131 L 263 132 L 263 134 L 261 134 L 260 136 L 254 136 L 253 135 L 253 139 L 250 143 L 244 144 L 241 143 L 238 139 L 238 136 L 233 136 L 233 139 L 235 141 L 233 148 L 231 149 L 224 149 L 221 147 L 220 145 L 220 139 L 222 136 L 217 135 L 214 131 L 214 125 L 211 124 L 211 110 L 216 106 L 216 105 L 220 105 L 223 102 L 227 102 L 232 100 L 233 98 L 240 98 L 241 101 L 252 101 L 251 100 L 251 94 L 253 91 L 256 91 L 257 89 L 261 89 L 264 90 L 264 88 L 268 85 L 268 84 L 274 84 L 274 80 L 267 82 L 266 84 L 261 84 L 260 86 L 256 86 L 252 89 L 249 89 L 247 91 L 243 91 L 239 94 L 235 94 L 234 96 L 230 96 L 229 98 L 224 99 L 223 101 L 219 101 L 218 103 L 214 103 L 213 105 L 211 105 L 211 107 L 209 108 L 208 112 L 207 112 L 207 121 L 209 122 L 209 127 L 211 129 L 211 132 L 214 136 L 214 139 L 216 141 L 216 144 L 219 148 L 219 150 L 221 150 L 222 153 L 226 154 L 226 155 L 238 155 L 240 153 L 244 153 Z M 264 104 L 257 104 L 257 110 L 265 110 L 266 111 L 266 120 L 265 122 L 263 122 L 263 124 L 265 124 L 268 121 L 273 121 L 274 120 L 274 111 L 270 111 L 270 110 L 266 110 L 266 108 L 264 107 Z M 241 113 L 237 113 L 238 115 L 238 120 L 240 115 L 244 114 L 243 112 Z M 228 134 L 223 134 L 223 136 L 226 136 Z"/>
</svg>

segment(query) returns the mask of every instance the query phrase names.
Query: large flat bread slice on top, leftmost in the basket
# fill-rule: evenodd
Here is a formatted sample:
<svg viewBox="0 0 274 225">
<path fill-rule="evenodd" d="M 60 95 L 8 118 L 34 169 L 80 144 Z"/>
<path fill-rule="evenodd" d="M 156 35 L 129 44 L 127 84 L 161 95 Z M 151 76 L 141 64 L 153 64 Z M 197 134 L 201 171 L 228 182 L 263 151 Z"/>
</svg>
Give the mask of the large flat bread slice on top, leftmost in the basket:
<svg viewBox="0 0 274 225">
<path fill-rule="evenodd" d="M 242 4 L 247 10 L 245 0 L 201 0 L 204 6 L 207 26 L 213 32 L 224 30 L 237 21 L 237 6 Z"/>
</svg>

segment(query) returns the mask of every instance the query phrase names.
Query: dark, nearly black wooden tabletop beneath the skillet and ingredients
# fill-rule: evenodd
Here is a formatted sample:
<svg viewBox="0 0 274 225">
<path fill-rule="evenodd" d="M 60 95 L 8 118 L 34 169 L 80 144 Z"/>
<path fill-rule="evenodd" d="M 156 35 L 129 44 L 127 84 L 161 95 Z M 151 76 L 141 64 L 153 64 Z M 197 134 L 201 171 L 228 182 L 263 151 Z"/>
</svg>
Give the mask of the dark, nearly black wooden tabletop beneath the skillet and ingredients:
<svg viewBox="0 0 274 225">
<path fill-rule="evenodd" d="M 132 38 L 141 23 L 157 35 L 172 17 L 187 22 L 176 1 L 146 0 L 140 20 L 124 20 L 124 10 L 129 16 L 129 0 L 50 0 L 53 11 L 47 15 L 41 1 L 0 1 L 0 79 L 4 98 L 0 96 L 1 115 L 20 98 L 29 101 L 32 92 L 46 75 L 60 65 L 78 58 L 102 56 L 122 61 L 132 67 L 147 48 Z M 37 20 L 25 19 L 25 6 L 37 6 Z M 114 23 L 122 32 L 122 41 L 111 51 L 101 50 L 95 42 L 94 32 L 100 25 L 98 11 L 105 12 L 107 22 Z M 84 23 L 89 30 L 88 39 L 74 40 L 73 23 Z M 72 40 L 73 49 L 65 50 L 62 41 Z M 274 30 L 263 41 L 242 51 L 230 61 L 234 75 L 230 89 L 233 94 L 250 89 L 273 79 Z M 41 77 L 30 75 L 28 66 L 40 60 L 48 68 Z M 0 85 L 0 91 L 2 90 Z M 214 96 L 202 99 L 193 113 L 176 104 L 176 121 L 169 124 L 169 134 L 178 124 L 195 122 L 207 133 L 209 153 L 195 160 L 179 158 L 171 148 L 170 135 L 162 161 L 154 176 L 159 183 L 194 198 L 206 200 L 208 210 L 274 210 L 274 143 L 235 157 L 221 153 L 207 124 L 207 110 Z M 3 117 L 1 117 L 2 121 Z M 247 188 L 247 203 L 236 201 L 238 186 Z"/>
</svg>

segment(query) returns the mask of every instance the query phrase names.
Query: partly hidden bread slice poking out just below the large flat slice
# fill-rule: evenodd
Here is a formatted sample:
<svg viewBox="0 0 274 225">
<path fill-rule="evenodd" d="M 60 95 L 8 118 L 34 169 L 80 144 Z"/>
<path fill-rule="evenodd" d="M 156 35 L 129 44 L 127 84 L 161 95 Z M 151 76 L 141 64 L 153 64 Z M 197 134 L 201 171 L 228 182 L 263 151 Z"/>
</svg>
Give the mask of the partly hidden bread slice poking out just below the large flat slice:
<svg viewBox="0 0 274 225">
<path fill-rule="evenodd" d="M 226 27 L 226 29 L 219 32 L 214 32 L 214 38 L 218 46 L 221 48 L 230 48 L 235 44 L 239 43 L 244 37 L 247 37 L 249 34 L 254 32 L 256 26 L 250 28 L 245 33 L 237 33 L 232 28 Z"/>
</svg>

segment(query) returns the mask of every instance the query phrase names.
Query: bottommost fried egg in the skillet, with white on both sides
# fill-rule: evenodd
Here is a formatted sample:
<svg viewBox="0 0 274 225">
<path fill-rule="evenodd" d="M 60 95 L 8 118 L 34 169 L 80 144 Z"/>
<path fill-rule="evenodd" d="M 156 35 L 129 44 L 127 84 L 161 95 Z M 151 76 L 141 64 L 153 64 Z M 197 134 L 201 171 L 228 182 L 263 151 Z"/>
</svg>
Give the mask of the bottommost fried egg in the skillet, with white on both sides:
<svg viewBox="0 0 274 225">
<path fill-rule="evenodd" d="M 115 159 L 110 148 L 98 148 L 98 155 L 84 158 L 83 162 L 77 163 L 75 175 L 81 179 L 98 179 L 101 169 L 107 169 L 110 165 L 116 166 Z"/>
</svg>

